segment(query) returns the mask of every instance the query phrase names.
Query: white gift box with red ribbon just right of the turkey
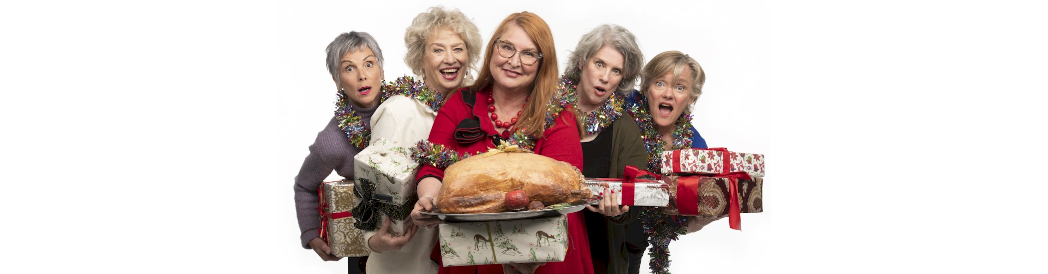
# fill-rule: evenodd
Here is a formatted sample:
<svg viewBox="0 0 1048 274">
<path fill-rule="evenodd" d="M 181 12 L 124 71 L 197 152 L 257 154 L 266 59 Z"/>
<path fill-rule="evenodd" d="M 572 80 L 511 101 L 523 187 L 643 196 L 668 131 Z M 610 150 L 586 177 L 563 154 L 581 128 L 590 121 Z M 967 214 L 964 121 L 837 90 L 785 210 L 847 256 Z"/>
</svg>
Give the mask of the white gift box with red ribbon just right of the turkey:
<svg viewBox="0 0 1048 274">
<path fill-rule="evenodd" d="M 665 206 L 670 203 L 670 189 L 661 181 L 635 180 L 627 185 L 630 186 L 629 191 L 624 195 L 623 179 L 586 178 L 586 187 L 590 191 L 608 198 L 604 190 L 610 188 L 618 196 L 620 205 Z"/>
</svg>

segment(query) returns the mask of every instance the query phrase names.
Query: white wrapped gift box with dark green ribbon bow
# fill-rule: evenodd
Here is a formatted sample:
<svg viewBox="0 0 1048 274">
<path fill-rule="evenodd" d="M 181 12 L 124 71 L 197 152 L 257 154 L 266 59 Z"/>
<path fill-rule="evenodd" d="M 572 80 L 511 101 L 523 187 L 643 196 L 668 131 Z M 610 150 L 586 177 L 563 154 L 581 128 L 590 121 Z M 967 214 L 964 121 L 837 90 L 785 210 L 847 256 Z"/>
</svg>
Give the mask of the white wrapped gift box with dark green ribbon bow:
<svg viewBox="0 0 1048 274">
<path fill-rule="evenodd" d="M 389 216 L 387 211 L 391 211 L 394 216 L 390 233 L 393 236 L 402 235 L 405 220 L 417 199 L 415 175 L 418 173 L 418 163 L 411 159 L 408 147 L 386 139 L 372 141 L 353 157 L 353 175 L 357 183 L 370 185 L 369 190 L 374 189 L 371 199 L 377 203 L 376 208 L 383 209 L 379 211 L 381 214 L 377 221 L 378 226 Z M 357 201 L 357 204 L 363 201 Z"/>
</svg>

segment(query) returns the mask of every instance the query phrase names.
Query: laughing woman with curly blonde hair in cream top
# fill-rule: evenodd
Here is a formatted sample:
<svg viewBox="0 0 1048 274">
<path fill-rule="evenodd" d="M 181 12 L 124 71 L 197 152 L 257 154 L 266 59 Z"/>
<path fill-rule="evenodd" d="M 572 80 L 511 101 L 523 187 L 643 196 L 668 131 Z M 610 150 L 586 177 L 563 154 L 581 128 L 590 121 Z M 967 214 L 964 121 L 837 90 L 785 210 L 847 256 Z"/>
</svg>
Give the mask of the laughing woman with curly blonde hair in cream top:
<svg viewBox="0 0 1048 274">
<path fill-rule="evenodd" d="M 403 36 L 405 63 L 422 81 L 402 76 L 383 86 L 391 96 L 371 116 L 371 140 L 385 139 L 397 146 L 412 146 L 430 135 L 444 98 L 466 84 L 480 56 L 480 30 L 462 12 L 441 6 L 418 14 Z M 414 227 L 407 222 L 407 227 Z M 377 231 L 365 231 L 371 249 L 370 273 L 437 273 L 430 253 L 436 230 L 406 229 L 394 236 L 390 222 Z"/>
</svg>

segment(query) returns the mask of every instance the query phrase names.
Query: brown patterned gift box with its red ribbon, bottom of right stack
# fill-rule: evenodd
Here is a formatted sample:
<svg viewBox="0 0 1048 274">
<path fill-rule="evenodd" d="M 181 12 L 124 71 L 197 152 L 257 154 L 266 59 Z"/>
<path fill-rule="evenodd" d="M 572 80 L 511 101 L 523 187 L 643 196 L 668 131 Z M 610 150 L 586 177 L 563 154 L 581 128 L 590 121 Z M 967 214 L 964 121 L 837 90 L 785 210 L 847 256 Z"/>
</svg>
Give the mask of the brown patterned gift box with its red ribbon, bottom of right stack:
<svg viewBox="0 0 1048 274">
<path fill-rule="evenodd" d="M 721 177 L 676 177 L 662 178 L 670 184 L 670 204 L 662 213 L 673 215 L 728 215 L 732 228 L 741 229 L 738 214 L 733 216 L 732 182 L 735 182 L 736 213 L 757 213 L 764 211 L 762 198 L 764 178 L 733 180 Z"/>
</svg>

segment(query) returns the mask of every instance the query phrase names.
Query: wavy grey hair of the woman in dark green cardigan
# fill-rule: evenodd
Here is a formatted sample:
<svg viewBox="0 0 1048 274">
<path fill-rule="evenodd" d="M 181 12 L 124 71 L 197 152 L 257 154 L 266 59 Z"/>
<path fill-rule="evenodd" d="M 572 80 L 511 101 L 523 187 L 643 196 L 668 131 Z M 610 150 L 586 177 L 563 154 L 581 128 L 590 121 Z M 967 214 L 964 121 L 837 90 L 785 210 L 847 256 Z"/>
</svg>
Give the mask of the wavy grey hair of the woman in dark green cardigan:
<svg viewBox="0 0 1048 274">
<path fill-rule="evenodd" d="M 599 25 L 590 30 L 589 33 L 583 35 L 575 50 L 568 54 L 568 68 L 564 73 L 568 75 L 582 73 L 582 67 L 586 61 L 596 54 L 596 51 L 605 45 L 623 53 L 623 82 L 618 83 L 616 91 L 620 94 L 633 91 L 637 77 L 640 76 L 645 54 L 640 52 L 640 46 L 637 45 L 637 38 L 633 36 L 633 32 L 619 25 Z"/>
</svg>

